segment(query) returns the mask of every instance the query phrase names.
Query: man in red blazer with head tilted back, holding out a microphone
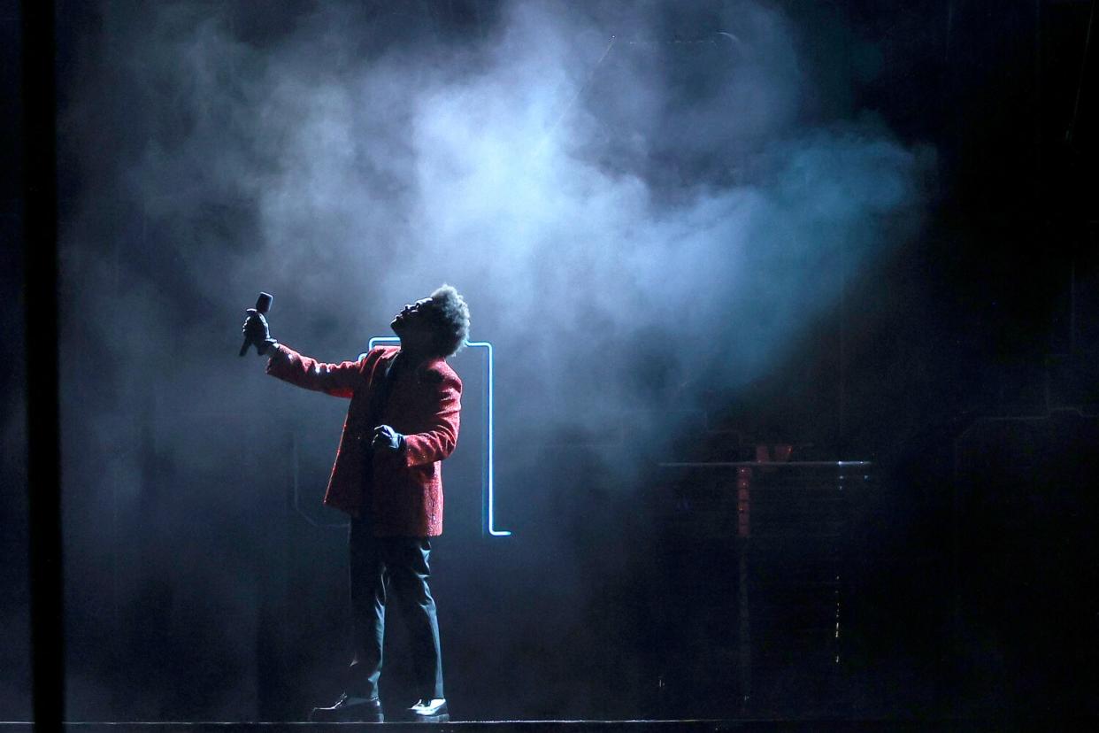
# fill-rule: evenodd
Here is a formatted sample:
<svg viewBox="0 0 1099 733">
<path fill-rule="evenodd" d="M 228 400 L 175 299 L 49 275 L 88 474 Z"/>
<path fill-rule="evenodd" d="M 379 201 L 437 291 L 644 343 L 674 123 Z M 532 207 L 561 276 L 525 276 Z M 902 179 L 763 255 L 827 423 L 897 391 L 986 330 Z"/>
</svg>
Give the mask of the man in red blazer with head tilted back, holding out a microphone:
<svg viewBox="0 0 1099 733">
<path fill-rule="evenodd" d="M 435 601 L 428 587 L 429 537 L 443 532 L 440 462 L 458 438 L 462 380 L 446 364 L 469 332 L 469 309 L 451 286 L 404 306 L 390 327 L 400 347 L 357 362 L 321 364 L 270 336 L 248 311 L 244 335 L 269 354 L 267 374 L 351 400 L 324 503 L 352 518 L 354 658 L 343 696 L 311 721 L 382 720 L 378 699 L 385 613 L 391 591 L 408 621 L 420 700 L 414 720 L 449 720 Z"/>
</svg>

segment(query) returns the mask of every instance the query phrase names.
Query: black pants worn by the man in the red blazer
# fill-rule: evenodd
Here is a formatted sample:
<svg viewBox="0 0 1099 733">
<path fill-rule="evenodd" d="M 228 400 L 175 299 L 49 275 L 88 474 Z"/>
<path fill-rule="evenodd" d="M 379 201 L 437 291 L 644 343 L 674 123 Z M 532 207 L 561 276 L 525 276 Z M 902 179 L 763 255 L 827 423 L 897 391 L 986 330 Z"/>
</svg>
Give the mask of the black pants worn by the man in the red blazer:
<svg viewBox="0 0 1099 733">
<path fill-rule="evenodd" d="M 378 696 L 381 648 L 386 633 L 386 600 L 392 591 L 409 630 L 412 668 L 419 696 L 442 698 L 443 658 L 439 647 L 439 619 L 428 578 L 431 568 L 428 537 L 376 537 L 369 520 L 352 520 L 351 609 L 355 658 L 347 693 Z"/>
</svg>

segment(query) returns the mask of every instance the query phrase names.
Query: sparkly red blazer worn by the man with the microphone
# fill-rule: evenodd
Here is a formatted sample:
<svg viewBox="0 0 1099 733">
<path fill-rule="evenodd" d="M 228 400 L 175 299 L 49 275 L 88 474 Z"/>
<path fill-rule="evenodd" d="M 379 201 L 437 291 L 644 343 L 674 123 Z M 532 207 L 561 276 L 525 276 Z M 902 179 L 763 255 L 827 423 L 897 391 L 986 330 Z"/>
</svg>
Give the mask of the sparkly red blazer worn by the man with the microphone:
<svg viewBox="0 0 1099 733">
<path fill-rule="evenodd" d="M 369 420 L 370 393 L 397 356 L 395 346 L 371 348 L 358 362 L 321 364 L 281 344 L 267 374 L 291 385 L 351 399 L 324 503 L 352 517 L 368 509 L 378 536 L 443 533 L 440 462 L 458 441 L 462 380 L 442 358 L 395 376 L 380 418 Z M 369 452 L 374 429 L 390 425 L 404 434 L 403 453 Z M 371 464 L 365 465 L 370 456 Z M 369 502 L 366 507 L 366 502 Z"/>
</svg>

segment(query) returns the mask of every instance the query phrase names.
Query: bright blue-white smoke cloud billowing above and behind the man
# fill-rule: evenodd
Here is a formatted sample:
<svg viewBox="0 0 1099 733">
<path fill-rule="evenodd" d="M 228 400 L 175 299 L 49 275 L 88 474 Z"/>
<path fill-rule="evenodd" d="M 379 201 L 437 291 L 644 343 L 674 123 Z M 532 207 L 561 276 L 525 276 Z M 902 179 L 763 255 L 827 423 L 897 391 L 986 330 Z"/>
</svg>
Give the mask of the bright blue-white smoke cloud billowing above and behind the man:
<svg viewBox="0 0 1099 733">
<path fill-rule="evenodd" d="M 917 202 L 887 131 L 803 124 L 789 21 L 757 3 L 678 43 L 656 12 L 620 36 L 606 11 L 514 3 L 437 42 L 325 7 L 263 47 L 209 5 L 126 10 L 144 144 L 119 185 L 168 230 L 145 246 L 174 251 L 173 285 L 233 309 L 254 279 L 292 303 L 278 337 L 335 359 L 454 282 L 519 422 L 689 400 L 628 376 L 655 344 L 675 378 L 758 377 Z"/>
</svg>

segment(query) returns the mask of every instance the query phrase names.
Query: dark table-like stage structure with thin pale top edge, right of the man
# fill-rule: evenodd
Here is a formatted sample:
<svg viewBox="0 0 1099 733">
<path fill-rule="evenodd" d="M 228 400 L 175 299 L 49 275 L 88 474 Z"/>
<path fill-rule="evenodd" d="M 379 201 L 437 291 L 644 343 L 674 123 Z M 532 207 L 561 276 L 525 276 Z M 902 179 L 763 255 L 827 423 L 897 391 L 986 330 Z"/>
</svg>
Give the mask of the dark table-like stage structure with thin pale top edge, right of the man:
<svg viewBox="0 0 1099 733">
<path fill-rule="evenodd" d="M 681 626 L 662 660 L 674 713 L 722 714 L 708 706 L 734 697 L 744 715 L 845 709 L 873 466 L 759 448 L 756 460 L 658 464 L 664 612 Z"/>
</svg>

